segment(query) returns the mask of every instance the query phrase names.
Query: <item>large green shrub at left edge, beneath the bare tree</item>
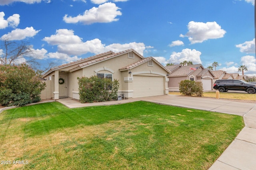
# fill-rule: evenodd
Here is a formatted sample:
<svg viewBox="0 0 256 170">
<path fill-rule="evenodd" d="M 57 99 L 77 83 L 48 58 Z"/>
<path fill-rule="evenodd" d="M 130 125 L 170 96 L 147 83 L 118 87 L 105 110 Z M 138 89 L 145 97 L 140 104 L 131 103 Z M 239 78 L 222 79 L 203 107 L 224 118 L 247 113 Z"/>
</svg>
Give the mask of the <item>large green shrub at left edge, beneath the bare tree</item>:
<svg viewBox="0 0 256 170">
<path fill-rule="evenodd" d="M 40 74 L 26 64 L 0 65 L 0 104 L 24 106 L 39 102 L 45 84 Z"/>
</svg>

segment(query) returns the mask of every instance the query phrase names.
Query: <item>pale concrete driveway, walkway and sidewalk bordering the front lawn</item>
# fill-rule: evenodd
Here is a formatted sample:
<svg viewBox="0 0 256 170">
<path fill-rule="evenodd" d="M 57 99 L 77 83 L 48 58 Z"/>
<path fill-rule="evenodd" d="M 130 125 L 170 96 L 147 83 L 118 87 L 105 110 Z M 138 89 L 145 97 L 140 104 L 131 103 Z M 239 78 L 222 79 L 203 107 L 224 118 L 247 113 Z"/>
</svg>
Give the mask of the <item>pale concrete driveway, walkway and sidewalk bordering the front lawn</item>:
<svg viewBox="0 0 256 170">
<path fill-rule="evenodd" d="M 94 104 L 80 104 L 76 100 L 69 98 L 60 99 L 58 102 L 67 107 L 74 108 L 122 104 L 139 100 L 243 116 L 245 127 L 209 170 L 256 169 L 256 103 L 176 95 L 153 96 Z"/>
</svg>

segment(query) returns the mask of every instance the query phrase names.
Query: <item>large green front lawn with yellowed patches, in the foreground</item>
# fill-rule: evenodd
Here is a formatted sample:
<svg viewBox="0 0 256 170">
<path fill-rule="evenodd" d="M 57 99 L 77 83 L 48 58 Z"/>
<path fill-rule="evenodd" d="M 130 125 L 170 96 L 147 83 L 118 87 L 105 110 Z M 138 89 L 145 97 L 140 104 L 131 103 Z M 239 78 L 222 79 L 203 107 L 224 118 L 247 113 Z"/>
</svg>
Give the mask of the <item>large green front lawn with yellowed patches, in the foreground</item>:
<svg viewBox="0 0 256 170">
<path fill-rule="evenodd" d="M 242 117 L 133 102 L 68 109 L 52 102 L 0 114 L 0 169 L 208 169 Z"/>
</svg>

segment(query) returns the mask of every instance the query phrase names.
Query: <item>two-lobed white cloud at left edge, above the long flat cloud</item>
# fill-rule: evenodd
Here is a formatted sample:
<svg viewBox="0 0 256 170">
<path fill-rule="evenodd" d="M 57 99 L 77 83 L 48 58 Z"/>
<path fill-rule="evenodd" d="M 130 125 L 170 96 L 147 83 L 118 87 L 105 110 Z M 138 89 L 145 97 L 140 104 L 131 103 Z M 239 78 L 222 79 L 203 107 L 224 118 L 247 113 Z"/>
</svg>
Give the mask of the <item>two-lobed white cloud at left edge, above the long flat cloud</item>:
<svg viewBox="0 0 256 170">
<path fill-rule="evenodd" d="M 17 27 L 20 23 L 20 15 L 19 14 L 13 14 L 7 20 L 4 20 L 4 12 L 0 12 L 0 29 L 4 29 L 6 27 Z"/>
</svg>

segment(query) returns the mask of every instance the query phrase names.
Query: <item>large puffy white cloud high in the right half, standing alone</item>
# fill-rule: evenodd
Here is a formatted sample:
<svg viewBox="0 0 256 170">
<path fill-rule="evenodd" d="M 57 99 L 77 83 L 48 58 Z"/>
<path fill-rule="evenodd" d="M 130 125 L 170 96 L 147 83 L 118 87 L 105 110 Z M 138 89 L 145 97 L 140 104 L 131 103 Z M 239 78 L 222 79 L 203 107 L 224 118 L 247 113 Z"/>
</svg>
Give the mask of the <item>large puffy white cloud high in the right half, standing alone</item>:
<svg viewBox="0 0 256 170">
<path fill-rule="evenodd" d="M 194 22 L 188 23 L 188 32 L 186 35 L 180 34 L 180 37 L 188 37 L 191 44 L 202 43 L 208 39 L 222 38 L 226 31 L 214 22 Z"/>
</svg>

